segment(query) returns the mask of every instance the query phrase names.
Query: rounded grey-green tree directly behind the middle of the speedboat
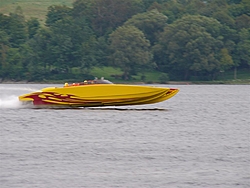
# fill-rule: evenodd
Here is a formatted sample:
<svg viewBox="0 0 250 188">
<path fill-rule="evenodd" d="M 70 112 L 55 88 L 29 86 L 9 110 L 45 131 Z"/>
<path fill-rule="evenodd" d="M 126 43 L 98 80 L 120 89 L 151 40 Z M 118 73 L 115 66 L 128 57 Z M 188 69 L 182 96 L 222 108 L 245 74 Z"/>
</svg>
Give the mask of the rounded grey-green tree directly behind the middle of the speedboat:
<svg viewBox="0 0 250 188">
<path fill-rule="evenodd" d="M 127 80 L 136 69 L 151 66 L 150 43 L 142 31 L 134 26 L 119 27 L 110 35 L 113 64 L 120 67 Z"/>
</svg>

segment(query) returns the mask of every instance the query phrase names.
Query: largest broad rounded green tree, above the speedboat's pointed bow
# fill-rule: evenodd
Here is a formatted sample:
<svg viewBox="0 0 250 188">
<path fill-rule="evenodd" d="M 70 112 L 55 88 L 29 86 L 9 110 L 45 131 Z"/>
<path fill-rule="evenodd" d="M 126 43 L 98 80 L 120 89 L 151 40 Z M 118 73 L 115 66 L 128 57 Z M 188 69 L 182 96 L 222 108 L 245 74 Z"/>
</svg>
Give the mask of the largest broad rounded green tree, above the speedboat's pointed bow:
<svg viewBox="0 0 250 188">
<path fill-rule="evenodd" d="M 192 72 L 216 71 L 219 64 L 217 52 L 222 46 L 216 38 L 220 35 L 220 27 L 217 20 L 204 16 L 184 16 L 167 26 L 156 46 L 157 53 L 165 59 L 162 64 L 182 75 L 180 79 L 184 80 Z"/>
</svg>

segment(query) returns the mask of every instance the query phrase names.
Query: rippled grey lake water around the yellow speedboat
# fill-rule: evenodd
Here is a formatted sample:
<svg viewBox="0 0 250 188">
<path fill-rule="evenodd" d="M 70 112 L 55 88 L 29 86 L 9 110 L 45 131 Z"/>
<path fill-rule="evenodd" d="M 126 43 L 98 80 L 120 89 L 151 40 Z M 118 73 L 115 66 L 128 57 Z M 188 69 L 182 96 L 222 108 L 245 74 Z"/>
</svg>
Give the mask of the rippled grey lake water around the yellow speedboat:
<svg viewBox="0 0 250 188">
<path fill-rule="evenodd" d="M 250 86 L 178 85 L 152 105 L 34 109 L 0 84 L 1 188 L 249 188 Z"/>
</svg>

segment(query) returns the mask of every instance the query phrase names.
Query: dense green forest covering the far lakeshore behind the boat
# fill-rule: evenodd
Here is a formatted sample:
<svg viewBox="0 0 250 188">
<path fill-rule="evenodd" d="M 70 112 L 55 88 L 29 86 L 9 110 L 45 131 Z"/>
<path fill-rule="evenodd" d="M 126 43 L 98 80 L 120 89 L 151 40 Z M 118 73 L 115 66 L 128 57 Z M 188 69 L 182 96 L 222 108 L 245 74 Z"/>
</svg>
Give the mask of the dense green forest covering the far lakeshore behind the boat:
<svg viewBox="0 0 250 188">
<path fill-rule="evenodd" d="M 130 80 L 215 80 L 250 69 L 249 0 L 76 0 L 45 23 L 0 14 L 0 81 L 82 79 L 111 66 Z"/>
</svg>

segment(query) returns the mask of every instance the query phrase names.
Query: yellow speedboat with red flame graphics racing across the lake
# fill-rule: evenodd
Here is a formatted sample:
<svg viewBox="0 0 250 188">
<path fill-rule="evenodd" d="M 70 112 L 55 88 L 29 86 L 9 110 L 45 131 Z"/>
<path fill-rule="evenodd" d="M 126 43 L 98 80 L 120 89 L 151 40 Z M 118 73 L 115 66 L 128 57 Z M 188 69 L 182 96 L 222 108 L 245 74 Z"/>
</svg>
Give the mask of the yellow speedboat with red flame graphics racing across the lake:
<svg viewBox="0 0 250 188">
<path fill-rule="evenodd" d="M 22 102 L 39 106 L 100 107 L 141 105 L 162 102 L 178 93 L 178 89 L 142 85 L 113 84 L 104 79 L 65 83 L 19 96 Z"/>
</svg>

